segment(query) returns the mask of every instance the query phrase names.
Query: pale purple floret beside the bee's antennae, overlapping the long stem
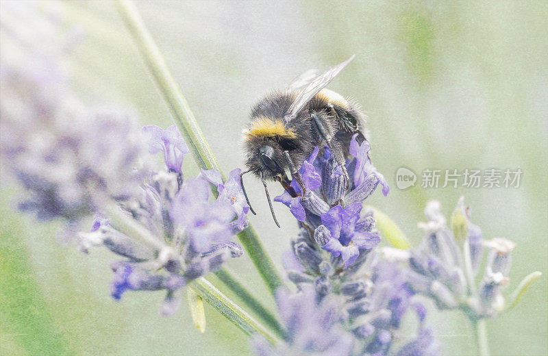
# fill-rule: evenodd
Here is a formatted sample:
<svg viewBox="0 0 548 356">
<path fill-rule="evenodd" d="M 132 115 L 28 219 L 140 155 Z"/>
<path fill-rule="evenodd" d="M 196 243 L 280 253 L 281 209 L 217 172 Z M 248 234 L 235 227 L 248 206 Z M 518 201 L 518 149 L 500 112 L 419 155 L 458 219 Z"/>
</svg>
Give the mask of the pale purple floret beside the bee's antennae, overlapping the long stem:
<svg viewBox="0 0 548 356">
<path fill-rule="evenodd" d="M 240 231 L 247 227 L 247 218 L 246 215 L 249 212 L 249 204 L 245 199 L 245 195 L 242 190 L 240 183 L 240 173 L 242 170 L 236 168 L 232 170 L 227 181 L 223 183 L 223 178 L 221 173 L 216 170 L 201 170 L 203 177 L 206 177 L 210 183 L 217 187 L 219 192 L 219 197 L 217 198 L 220 201 L 228 201 L 232 205 L 232 209 L 238 216 L 236 220 L 236 228 Z"/>
</svg>

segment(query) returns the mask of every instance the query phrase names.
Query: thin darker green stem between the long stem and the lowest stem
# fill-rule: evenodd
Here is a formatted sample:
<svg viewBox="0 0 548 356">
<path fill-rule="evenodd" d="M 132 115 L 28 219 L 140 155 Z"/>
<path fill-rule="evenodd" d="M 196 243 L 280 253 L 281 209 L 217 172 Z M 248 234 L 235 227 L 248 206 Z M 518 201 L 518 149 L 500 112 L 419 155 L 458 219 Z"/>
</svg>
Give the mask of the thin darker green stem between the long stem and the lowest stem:
<svg viewBox="0 0 548 356">
<path fill-rule="evenodd" d="M 234 277 L 232 273 L 230 273 L 225 268 L 221 268 L 220 270 L 217 270 L 214 272 L 217 278 L 221 280 L 230 290 L 232 290 L 236 295 L 242 300 L 242 302 L 249 307 L 249 309 L 253 310 L 260 318 L 262 322 L 264 322 L 265 325 L 271 327 L 273 331 L 280 337 L 284 337 L 284 329 L 282 325 L 279 325 L 279 322 L 277 321 L 274 314 L 272 314 L 269 309 L 266 309 L 258 301 L 257 298 L 255 298 L 245 287 Z"/>
</svg>

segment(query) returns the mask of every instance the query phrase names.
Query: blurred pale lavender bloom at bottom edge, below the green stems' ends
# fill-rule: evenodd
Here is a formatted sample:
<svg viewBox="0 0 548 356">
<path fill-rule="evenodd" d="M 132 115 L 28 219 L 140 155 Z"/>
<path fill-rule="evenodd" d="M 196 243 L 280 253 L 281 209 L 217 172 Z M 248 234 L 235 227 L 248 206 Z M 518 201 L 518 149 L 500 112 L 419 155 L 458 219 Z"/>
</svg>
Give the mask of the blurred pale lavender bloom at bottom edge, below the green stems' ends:
<svg viewBox="0 0 548 356">
<path fill-rule="evenodd" d="M 252 344 L 258 355 L 353 355 L 354 338 L 340 324 L 340 309 L 334 298 L 322 298 L 309 286 L 296 294 L 279 290 L 277 305 L 288 337 L 273 346 L 262 336 L 255 336 Z"/>
</svg>

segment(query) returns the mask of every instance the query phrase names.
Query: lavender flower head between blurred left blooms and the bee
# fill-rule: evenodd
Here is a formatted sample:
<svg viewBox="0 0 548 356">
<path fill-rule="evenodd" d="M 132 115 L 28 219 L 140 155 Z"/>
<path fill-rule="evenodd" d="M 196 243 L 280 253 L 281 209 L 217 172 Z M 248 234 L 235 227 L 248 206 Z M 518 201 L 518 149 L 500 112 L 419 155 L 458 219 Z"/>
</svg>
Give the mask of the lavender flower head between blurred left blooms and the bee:
<svg viewBox="0 0 548 356">
<path fill-rule="evenodd" d="M 203 177 L 180 179 L 180 172 L 170 169 L 155 173 L 141 185 L 141 194 L 123 204 L 132 223 L 150 231 L 155 243 L 127 236 L 101 214 L 95 216 L 90 232 L 79 233 L 83 251 L 102 244 L 127 257 L 112 265 L 115 299 L 127 290 L 166 290 L 160 312 L 173 314 L 180 304 L 180 288 L 242 255 L 240 246 L 230 241 L 232 205 L 211 200 Z"/>
</svg>

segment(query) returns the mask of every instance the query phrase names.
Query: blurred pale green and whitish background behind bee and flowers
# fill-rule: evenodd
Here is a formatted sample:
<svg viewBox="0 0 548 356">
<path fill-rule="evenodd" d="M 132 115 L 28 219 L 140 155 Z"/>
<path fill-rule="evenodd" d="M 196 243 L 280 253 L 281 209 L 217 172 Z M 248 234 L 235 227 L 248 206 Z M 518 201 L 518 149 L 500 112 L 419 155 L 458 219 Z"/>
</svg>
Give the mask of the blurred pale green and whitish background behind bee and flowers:
<svg viewBox="0 0 548 356">
<path fill-rule="evenodd" d="M 485 238 L 517 244 L 506 292 L 533 270 L 545 273 L 511 312 L 488 321 L 493 355 L 547 354 L 547 1 L 137 5 L 225 172 L 242 167 L 238 142 L 250 105 L 309 68 L 356 54 L 329 88 L 356 99 L 369 115 L 373 162 L 392 188 L 388 197 L 377 192 L 369 203 L 416 245 L 425 203 L 438 199 L 449 216 L 464 194 Z M 80 95 L 89 103 L 134 107 L 143 124 L 171 125 L 113 3 L 62 6 L 66 20 L 86 31 L 71 57 Z M 184 166 L 186 174 L 197 173 L 191 159 Z M 417 186 L 397 189 L 401 166 L 419 175 Z M 517 189 L 423 189 L 420 176 L 427 168 L 521 168 L 523 176 Z M 262 186 L 247 180 L 258 213 L 251 223 L 282 271 L 280 256 L 297 227 L 277 203 L 277 229 Z M 55 225 L 16 214 L 12 190 L 2 192 L 1 355 L 250 354 L 248 338 L 210 307 L 202 335 L 185 305 L 175 316 L 158 316 L 162 292 L 129 292 L 116 303 L 108 291 L 114 255 L 96 249 L 85 256 L 59 246 Z M 273 306 L 247 257 L 229 268 Z M 429 324 L 444 344 L 443 355 L 475 353 L 471 326 L 460 314 L 432 313 Z"/>
</svg>

